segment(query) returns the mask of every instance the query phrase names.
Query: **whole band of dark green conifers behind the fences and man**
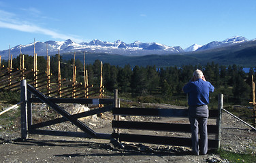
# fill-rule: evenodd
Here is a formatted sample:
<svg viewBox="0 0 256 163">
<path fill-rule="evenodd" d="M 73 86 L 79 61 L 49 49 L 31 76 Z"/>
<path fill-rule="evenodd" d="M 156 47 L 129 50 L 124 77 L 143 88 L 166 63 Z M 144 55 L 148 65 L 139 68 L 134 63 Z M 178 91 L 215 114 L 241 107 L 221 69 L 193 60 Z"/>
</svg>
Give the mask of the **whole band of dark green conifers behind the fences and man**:
<svg viewBox="0 0 256 163">
<path fill-rule="evenodd" d="M 73 61 L 61 58 L 61 77 L 72 78 Z M 3 65 L 7 67 L 8 61 L 3 60 Z M 13 59 L 12 67 L 20 68 L 20 56 Z M 25 67 L 33 69 L 33 56 L 25 55 Z M 46 71 L 46 58 L 37 56 L 37 67 L 39 71 Z M 76 60 L 77 81 L 84 81 L 83 63 Z M 89 85 L 99 86 L 100 80 L 100 60 L 95 60 L 93 64 L 86 65 L 89 75 Z M 238 65 L 218 65 L 208 62 L 206 65 L 184 65 L 182 67 L 124 67 L 103 63 L 103 86 L 108 92 L 118 89 L 121 93 L 129 93 L 133 96 L 159 95 L 170 99 L 173 96 L 185 96 L 182 87 L 189 82 L 195 69 L 201 69 L 208 82 L 215 87 L 214 94 L 227 94 L 231 101 L 242 103 L 252 98 L 252 79 L 255 75 L 254 68 L 251 67 L 248 73 L 243 71 L 243 67 Z M 58 55 L 50 58 L 50 71 L 53 76 L 58 74 Z"/>
</svg>

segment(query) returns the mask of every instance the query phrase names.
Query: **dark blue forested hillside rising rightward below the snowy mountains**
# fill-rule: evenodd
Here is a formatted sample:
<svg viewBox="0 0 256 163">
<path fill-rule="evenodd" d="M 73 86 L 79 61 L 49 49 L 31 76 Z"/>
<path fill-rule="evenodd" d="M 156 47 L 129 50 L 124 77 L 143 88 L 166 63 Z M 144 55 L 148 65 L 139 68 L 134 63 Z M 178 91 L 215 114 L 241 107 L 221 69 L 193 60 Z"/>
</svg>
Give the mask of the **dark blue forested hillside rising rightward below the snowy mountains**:
<svg viewBox="0 0 256 163">
<path fill-rule="evenodd" d="M 69 60 L 74 57 L 74 53 L 62 54 L 63 59 Z M 83 53 L 76 53 L 76 58 L 83 60 Z M 123 56 L 118 54 L 92 54 L 86 53 L 86 64 L 92 64 L 95 60 L 108 62 L 110 65 L 135 65 L 146 67 L 155 65 L 156 67 L 170 67 L 182 65 L 206 65 L 207 62 L 215 62 L 219 65 L 240 65 L 242 67 L 255 67 L 256 41 L 239 43 L 233 46 L 216 48 L 211 50 L 201 50 L 169 55 L 146 55 L 146 56 Z"/>
</svg>

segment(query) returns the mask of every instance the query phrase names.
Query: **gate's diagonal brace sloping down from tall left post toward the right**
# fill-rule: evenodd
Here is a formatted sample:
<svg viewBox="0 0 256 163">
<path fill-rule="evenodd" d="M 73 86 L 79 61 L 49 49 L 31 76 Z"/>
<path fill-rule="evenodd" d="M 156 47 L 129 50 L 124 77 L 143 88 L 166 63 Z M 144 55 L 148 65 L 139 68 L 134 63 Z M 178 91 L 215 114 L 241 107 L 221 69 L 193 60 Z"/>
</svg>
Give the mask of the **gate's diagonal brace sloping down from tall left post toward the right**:
<svg viewBox="0 0 256 163">
<path fill-rule="evenodd" d="M 82 131 L 90 134 L 93 137 L 96 137 L 96 132 L 94 132 L 93 130 L 91 130 L 91 128 L 89 128 L 88 126 L 86 126 L 85 124 L 80 122 L 80 120 L 77 120 L 76 118 L 71 117 L 71 115 L 67 111 L 65 111 L 63 108 L 59 107 L 59 105 L 57 105 L 56 103 L 52 103 L 52 101 L 49 101 L 48 98 L 44 94 L 38 92 L 37 90 L 35 90 L 35 88 L 33 88 L 29 84 L 27 84 L 27 89 L 29 90 L 29 92 L 35 94 L 35 96 L 37 96 L 42 102 L 44 102 L 47 105 L 49 105 L 50 107 L 52 107 L 52 109 L 57 111 L 59 114 L 61 114 L 63 117 L 65 117 L 70 122 L 72 122 L 74 125 L 76 125 L 78 128 L 80 128 Z"/>
</svg>

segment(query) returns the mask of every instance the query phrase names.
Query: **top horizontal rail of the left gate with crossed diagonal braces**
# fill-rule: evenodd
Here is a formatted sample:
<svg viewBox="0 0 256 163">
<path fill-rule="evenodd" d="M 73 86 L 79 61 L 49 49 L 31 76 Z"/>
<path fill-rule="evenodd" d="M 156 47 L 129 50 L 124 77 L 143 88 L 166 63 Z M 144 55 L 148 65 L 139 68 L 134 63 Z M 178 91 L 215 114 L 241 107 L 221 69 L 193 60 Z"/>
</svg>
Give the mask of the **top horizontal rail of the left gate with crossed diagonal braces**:
<svg viewBox="0 0 256 163">
<path fill-rule="evenodd" d="M 80 103 L 93 104 L 95 98 L 48 98 L 52 103 Z M 97 100 L 97 99 L 96 99 Z M 31 103 L 42 103 L 39 98 L 29 98 Z M 113 104 L 114 99 L 99 98 L 99 104 Z"/>
</svg>

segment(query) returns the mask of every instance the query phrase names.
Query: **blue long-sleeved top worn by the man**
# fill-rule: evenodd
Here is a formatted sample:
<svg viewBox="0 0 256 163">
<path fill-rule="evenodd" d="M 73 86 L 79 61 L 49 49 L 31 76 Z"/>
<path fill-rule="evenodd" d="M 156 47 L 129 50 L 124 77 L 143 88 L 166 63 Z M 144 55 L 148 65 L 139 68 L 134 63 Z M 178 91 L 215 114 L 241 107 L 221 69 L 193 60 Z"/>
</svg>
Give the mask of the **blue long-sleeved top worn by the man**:
<svg viewBox="0 0 256 163">
<path fill-rule="evenodd" d="M 189 93 L 189 106 L 207 105 L 209 103 L 209 93 L 214 91 L 214 86 L 210 82 L 197 79 L 189 82 L 183 87 L 185 93 Z"/>
</svg>

